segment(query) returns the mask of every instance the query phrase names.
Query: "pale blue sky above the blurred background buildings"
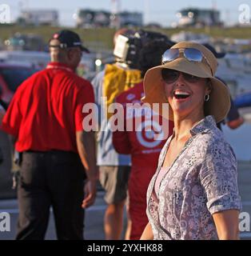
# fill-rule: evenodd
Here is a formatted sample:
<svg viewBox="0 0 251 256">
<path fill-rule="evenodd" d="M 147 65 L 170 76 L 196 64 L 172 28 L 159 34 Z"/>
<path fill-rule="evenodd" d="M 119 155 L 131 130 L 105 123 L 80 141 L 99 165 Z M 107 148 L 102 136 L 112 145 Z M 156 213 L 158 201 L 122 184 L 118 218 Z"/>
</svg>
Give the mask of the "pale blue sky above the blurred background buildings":
<svg viewBox="0 0 251 256">
<path fill-rule="evenodd" d="M 1 3 L 10 5 L 12 20 L 18 17 L 21 9 L 54 9 L 59 11 L 59 19 L 62 25 L 74 26 L 72 18 L 78 8 L 90 8 L 94 10 L 111 10 L 112 0 L 0 0 Z M 251 0 L 120 0 L 121 10 L 140 11 L 144 14 L 144 22 L 158 22 L 162 26 L 170 26 L 176 22 L 176 12 L 184 7 L 210 8 L 216 6 L 221 10 L 221 19 L 225 22 L 238 21 L 241 13 L 239 6 L 248 4 L 251 11 Z"/>
</svg>

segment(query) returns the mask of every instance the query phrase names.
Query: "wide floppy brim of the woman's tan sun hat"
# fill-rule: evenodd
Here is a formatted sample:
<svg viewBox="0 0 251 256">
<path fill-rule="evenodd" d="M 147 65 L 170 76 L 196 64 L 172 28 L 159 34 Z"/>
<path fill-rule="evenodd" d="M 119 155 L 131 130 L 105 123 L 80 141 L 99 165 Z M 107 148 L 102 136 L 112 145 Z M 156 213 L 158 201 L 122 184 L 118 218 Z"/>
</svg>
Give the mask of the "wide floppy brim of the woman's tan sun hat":
<svg viewBox="0 0 251 256">
<path fill-rule="evenodd" d="M 165 65 L 156 66 L 148 70 L 144 78 L 145 97 L 142 102 L 149 103 L 168 103 L 165 97 L 165 88 L 161 77 L 162 69 L 177 70 L 187 74 L 193 74 L 199 78 L 209 78 L 212 84 L 212 91 L 208 102 L 205 102 L 206 114 L 213 115 L 216 122 L 221 122 L 229 112 L 230 109 L 230 94 L 229 89 L 219 79 L 209 74 L 209 70 L 203 63 L 189 62 L 185 58 L 177 58 L 173 62 L 168 62 Z M 173 120 L 173 110 L 169 107 L 169 113 L 162 113 L 160 107 L 160 114 L 164 118 Z"/>
</svg>

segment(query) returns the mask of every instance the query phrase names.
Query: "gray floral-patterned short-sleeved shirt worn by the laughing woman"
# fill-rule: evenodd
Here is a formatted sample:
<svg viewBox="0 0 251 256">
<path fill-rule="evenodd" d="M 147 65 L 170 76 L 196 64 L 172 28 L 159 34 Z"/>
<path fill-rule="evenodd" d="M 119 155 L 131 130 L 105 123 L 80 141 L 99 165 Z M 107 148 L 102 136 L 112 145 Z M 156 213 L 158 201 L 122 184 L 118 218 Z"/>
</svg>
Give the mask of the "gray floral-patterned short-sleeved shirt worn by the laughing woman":
<svg viewBox="0 0 251 256">
<path fill-rule="evenodd" d="M 154 184 L 172 137 L 161 151 L 156 174 L 147 191 L 147 215 L 154 239 L 217 239 L 212 214 L 241 209 L 237 186 L 237 160 L 212 116 L 190 130 L 172 166 Z"/>
</svg>

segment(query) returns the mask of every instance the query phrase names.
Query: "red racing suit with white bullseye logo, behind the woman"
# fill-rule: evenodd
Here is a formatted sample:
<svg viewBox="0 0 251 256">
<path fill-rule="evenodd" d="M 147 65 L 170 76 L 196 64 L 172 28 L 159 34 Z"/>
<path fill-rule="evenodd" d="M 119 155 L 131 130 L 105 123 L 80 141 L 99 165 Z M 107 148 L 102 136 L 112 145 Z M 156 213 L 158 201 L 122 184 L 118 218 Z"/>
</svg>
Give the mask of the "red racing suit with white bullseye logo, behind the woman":
<svg viewBox="0 0 251 256">
<path fill-rule="evenodd" d="M 118 122 L 123 122 L 124 130 L 113 133 L 115 150 L 132 157 L 129 177 L 129 213 L 133 221 L 131 239 L 138 239 L 148 222 L 145 214 L 146 191 L 157 169 L 161 149 L 173 134 L 173 122 L 144 107 L 141 102 L 143 95 L 141 82 L 118 96 L 116 102 L 124 108 L 124 115 Z"/>
</svg>

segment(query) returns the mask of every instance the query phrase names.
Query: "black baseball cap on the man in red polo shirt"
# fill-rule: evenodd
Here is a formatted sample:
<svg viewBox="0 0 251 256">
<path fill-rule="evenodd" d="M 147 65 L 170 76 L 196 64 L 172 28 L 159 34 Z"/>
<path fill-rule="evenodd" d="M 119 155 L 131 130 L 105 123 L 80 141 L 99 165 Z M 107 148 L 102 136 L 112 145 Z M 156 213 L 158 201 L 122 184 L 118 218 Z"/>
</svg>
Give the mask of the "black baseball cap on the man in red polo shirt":
<svg viewBox="0 0 251 256">
<path fill-rule="evenodd" d="M 79 35 L 74 31 L 61 30 L 55 33 L 50 40 L 52 39 L 58 39 L 58 41 L 60 42 L 60 45 L 59 45 L 60 48 L 79 47 L 82 51 L 85 51 L 88 54 L 90 53 L 90 50 L 88 50 L 85 46 L 82 45 L 82 41 Z M 58 47 L 58 46 L 50 46 L 50 47 Z"/>
</svg>

